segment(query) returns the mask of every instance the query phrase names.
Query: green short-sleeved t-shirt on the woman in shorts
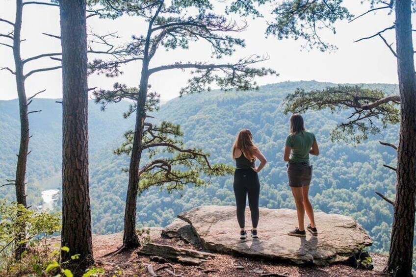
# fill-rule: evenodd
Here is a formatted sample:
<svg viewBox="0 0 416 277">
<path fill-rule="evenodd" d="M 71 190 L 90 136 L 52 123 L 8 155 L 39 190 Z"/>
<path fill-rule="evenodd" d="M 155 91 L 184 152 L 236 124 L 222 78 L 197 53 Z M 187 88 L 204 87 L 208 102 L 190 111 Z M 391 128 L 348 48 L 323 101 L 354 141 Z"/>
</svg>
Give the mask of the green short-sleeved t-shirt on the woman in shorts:
<svg viewBox="0 0 416 277">
<path fill-rule="evenodd" d="M 310 131 L 288 135 L 286 138 L 286 146 L 292 148 L 289 163 L 309 162 L 309 151 L 315 140 L 315 135 Z"/>
</svg>

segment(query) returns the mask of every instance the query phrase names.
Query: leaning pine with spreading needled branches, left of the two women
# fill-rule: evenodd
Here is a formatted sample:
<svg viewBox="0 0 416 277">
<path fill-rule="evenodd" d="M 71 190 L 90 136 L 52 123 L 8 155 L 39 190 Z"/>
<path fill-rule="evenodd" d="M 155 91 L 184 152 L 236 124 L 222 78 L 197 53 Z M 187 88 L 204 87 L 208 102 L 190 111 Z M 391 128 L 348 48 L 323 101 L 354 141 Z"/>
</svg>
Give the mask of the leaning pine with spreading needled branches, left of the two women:
<svg viewBox="0 0 416 277">
<path fill-rule="evenodd" d="M 177 61 L 173 64 L 152 67 L 152 59 L 156 55 L 157 50 L 165 48 L 167 50 L 175 50 L 177 48 L 187 49 L 190 42 L 199 40 L 207 41 L 211 45 L 212 56 L 221 58 L 222 56 L 230 56 L 234 52 L 236 46 L 244 46 L 244 40 L 234 38 L 230 34 L 240 32 L 245 26 L 238 26 L 235 22 L 228 20 L 225 16 L 216 15 L 207 12 L 211 8 L 209 1 L 112 1 L 102 2 L 106 9 L 101 10 L 102 17 L 116 18 L 123 14 L 145 18 L 148 22 L 148 28 L 142 32 L 142 35 L 132 36 L 132 41 L 124 46 L 112 46 L 108 41 L 108 36 L 96 36 L 96 39 L 104 42 L 109 46 L 106 50 L 96 50 L 97 53 L 111 53 L 113 60 L 95 59 L 90 63 L 90 73 L 103 73 L 108 77 L 119 76 L 121 65 L 131 61 L 140 60 L 142 64 L 140 83 L 136 89 L 127 88 L 125 85 L 116 83 L 113 90 L 107 92 L 115 95 L 113 99 L 107 98 L 107 101 L 120 101 L 121 99 L 132 99 L 135 101 L 134 107 L 130 113 L 135 113 L 135 127 L 130 133 L 130 167 L 129 167 L 129 184 L 127 190 L 125 221 L 124 221 L 124 238 L 121 250 L 135 248 L 140 245 L 136 235 L 136 201 L 140 186 L 147 186 L 149 179 L 146 180 L 148 174 L 141 173 L 140 161 L 142 158 L 142 150 L 146 143 L 146 135 L 149 135 L 151 129 L 146 127 L 147 103 L 148 97 L 151 96 L 149 89 L 149 78 L 162 71 L 169 70 L 193 70 L 194 76 L 189 79 L 188 84 L 182 88 L 181 95 L 185 93 L 201 92 L 204 89 L 209 90 L 211 83 L 216 83 L 224 90 L 236 88 L 238 90 L 250 90 L 257 88 L 254 78 L 256 76 L 265 76 L 274 74 L 275 72 L 265 68 L 253 68 L 256 64 L 265 58 L 253 55 L 247 59 L 240 59 L 234 64 L 216 64 L 202 61 L 182 62 Z M 195 16 L 186 15 L 186 11 L 190 8 L 196 8 L 199 12 Z M 138 32 L 143 30 L 138 30 Z M 111 36 L 111 35 L 110 35 Z M 120 93 L 120 95 L 117 95 Z M 98 93 L 99 94 L 99 93 Z M 159 126 L 160 127 L 160 126 Z M 170 146 L 169 149 L 175 148 Z M 178 156 L 171 160 L 170 163 L 186 165 L 189 161 L 200 161 L 201 155 L 194 152 L 183 152 L 180 148 Z M 198 151 L 199 153 L 199 151 Z M 195 157 L 190 157 L 194 156 Z M 207 161 L 206 161 L 207 162 Z M 145 166 L 146 167 L 146 166 Z M 174 174 L 179 172 L 170 171 L 165 164 L 150 165 L 150 169 L 159 167 L 163 170 L 163 174 L 156 175 L 155 184 L 158 180 L 170 180 L 175 183 Z M 169 172 L 170 171 L 170 172 Z M 204 170 L 203 170 L 204 171 Z M 212 171 L 209 169 L 208 171 Z M 169 174 L 166 175 L 166 172 Z M 192 170 L 191 170 L 192 172 Z M 144 181 L 141 181 L 141 174 L 144 174 Z M 191 176 L 194 173 L 192 172 Z M 187 177 L 186 174 L 181 177 Z M 164 179 L 167 178 L 167 179 Z M 195 177 L 191 177 L 194 180 Z M 163 181 L 163 182 L 164 182 Z M 197 180 L 198 181 L 198 180 Z M 152 181 L 151 181 L 152 182 Z M 177 183 L 179 184 L 179 183 Z"/>
</svg>

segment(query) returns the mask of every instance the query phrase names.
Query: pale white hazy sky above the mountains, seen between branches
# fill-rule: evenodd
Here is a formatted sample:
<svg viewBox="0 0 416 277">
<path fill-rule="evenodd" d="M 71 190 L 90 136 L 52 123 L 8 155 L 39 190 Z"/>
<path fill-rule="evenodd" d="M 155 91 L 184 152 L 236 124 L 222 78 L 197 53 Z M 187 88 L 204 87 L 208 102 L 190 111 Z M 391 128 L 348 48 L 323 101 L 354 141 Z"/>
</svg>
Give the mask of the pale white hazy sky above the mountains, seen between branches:
<svg viewBox="0 0 416 277">
<path fill-rule="evenodd" d="M 360 0 L 348 0 L 348 7 L 354 14 L 360 14 L 368 6 L 360 4 Z M 14 21 L 15 1 L 0 0 L 0 17 Z M 222 8 L 217 7 L 217 12 Z M 236 15 L 232 16 L 239 20 Z M 259 84 L 276 83 L 286 80 L 317 80 L 335 83 L 397 83 L 397 66 L 394 56 L 383 44 L 380 38 L 353 43 L 364 36 L 372 35 L 377 31 L 393 24 L 393 17 L 387 15 L 387 11 L 381 11 L 359 19 L 353 23 L 342 22 L 337 24 L 336 35 L 326 32 L 324 40 L 333 42 L 338 50 L 333 53 L 322 53 L 319 50 L 302 50 L 304 41 L 283 40 L 275 37 L 265 37 L 264 30 L 266 20 L 260 18 L 248 20 L 248 29 L 237 34 L 246 40 L 246 48 L 237 49 L 234 56 L 225 61 L 236 61 L 241 57 L 251 54 L 268 54 L 270 59 L 259 66 L 270 67 L 276 70 L 280 76 L 269 76 L 258 79 Z M 121 19 L 102 20 L 97 17 L 88 19 L 88 28 L 94 32 L 105 34 L 118 31 L 118 35 L 129 39 L 132 34 L 139 35 L 143 32 L 143 22 L 138 18 L 123 17 Z M 0 30 L 4 33 L 8 26 L 0 23 Z M 27 5 L 24 8 L 24 20 L 22 38 L 22 57 L 28 58 L 46 51 L 60 51 L 60 42 L 42 35 L 41 33 L 59 34 L 59 10 L 57 7 Z M 393 42 L 394 31 L 386 34 L 389 42 Z M 1 42 L 7 42 L 1 38 Z M 394 47 L 394 45 L 393 45 Z M 170 64 L 175 61 L 212 61 L 210 48 L 205 43 L 192 44 L 189 50 L 165 51 L 158 50 L 152 66 Z M 223 61 L 222 61 L 223 62 Z M 57 62 L 44 58 L 38 62 L 31 62 L 31 67 L 26 72 L 37 67 L 49 67 Z M 13 55 L 9 48 L 0 46 L 0 67 L 13 66 Z M 129 86 L 137 86 L 139 82 L 140 63 L 129 64 L 123 68 L 125 74 L 118 78 L 106 78 L 104 76 L 90 76 L 90 87 L 110 88 L 114 81 L 126 83 Z M 179 94 L 179 90 L 185 85 L 189 72 L 165 71 L 152 76 L 150 83 L 152 91 L 161 94 L 162 99 L 171 99 Z M 26 81 L 26 93 L 28 96 L 47 89 L 42 98 L 60 98 L 61 72 L 39 73 L 30 76 Z M 0 71 L 0 99 L 17 98 L 14 76 L 7 71 Z"/>
</svg>

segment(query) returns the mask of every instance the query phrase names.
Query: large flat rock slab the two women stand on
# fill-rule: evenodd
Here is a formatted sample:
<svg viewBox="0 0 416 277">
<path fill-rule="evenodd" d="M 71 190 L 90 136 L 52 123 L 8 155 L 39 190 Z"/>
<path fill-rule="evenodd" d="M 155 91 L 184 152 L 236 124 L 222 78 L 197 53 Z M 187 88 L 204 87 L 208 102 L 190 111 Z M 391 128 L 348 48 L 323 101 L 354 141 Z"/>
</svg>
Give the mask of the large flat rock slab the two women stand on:
<svg viewBox="0 0 416 277">
<path fill-rule="evenodd" d="M 213 252 L 290 261 L 296 264 L 325 265 L 346 261 L 370 246 L 372 240 L 354 219 L 338 214 L 315 213 L 319 234 L 306 238 L 288 236 L 297 226 L 296 211 L 260 208 L 259 238 L 239 238 L 235 206 L 199 206 L 178 215 L 189 223 L 203 246 Z M 305 222 L 308 222 L 307 216 Z M 246 209 L 246 230 L 250 230 Z"/>
</svg>

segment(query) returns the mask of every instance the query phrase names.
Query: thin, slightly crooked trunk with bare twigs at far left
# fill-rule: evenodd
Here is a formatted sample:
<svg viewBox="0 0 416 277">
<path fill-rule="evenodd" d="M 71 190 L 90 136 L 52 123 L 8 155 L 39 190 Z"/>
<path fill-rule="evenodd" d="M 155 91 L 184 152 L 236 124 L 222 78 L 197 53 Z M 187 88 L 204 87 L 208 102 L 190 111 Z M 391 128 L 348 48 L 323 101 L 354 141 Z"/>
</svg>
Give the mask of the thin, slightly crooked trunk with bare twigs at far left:
<svg viewBox="0 0 416 277">
<path fill-rule="evenodd" d="M 20 147 L 17 156 L 16 165 L 16 201 L 27 207 L 26 202 L 26 162 L 29 149 L 29 118 L 27 115 L 27 99 L 25 92 L 25 76 L 23 75 L 23 63 L 20 53 L 21 30 L 22 30 L 23 2 L 16 0 L 16 20 L 13 33 L 13 56 L 16 68 L 16 87 L 19 98 L 20 112 Z M 15 248 L 15 258 L 20 259 L 26 249 L 26 243 L 20 243 L 25 240 L 25 223 L 21 222 L 19 231 L 16 234 L 17 244 Z"/>
</svg>

